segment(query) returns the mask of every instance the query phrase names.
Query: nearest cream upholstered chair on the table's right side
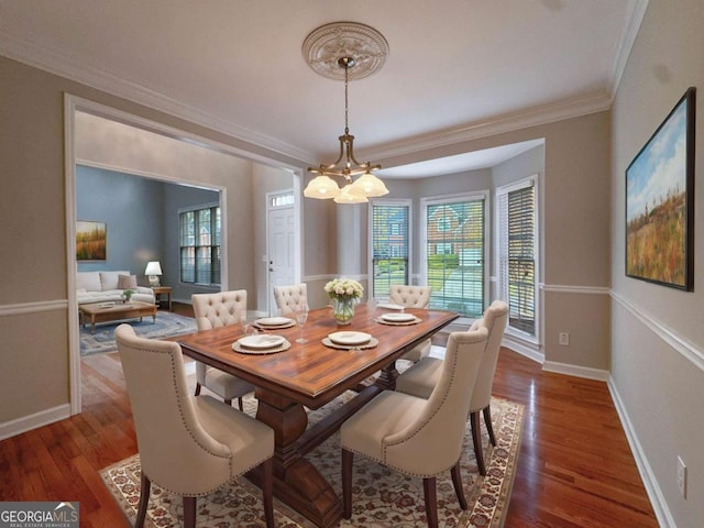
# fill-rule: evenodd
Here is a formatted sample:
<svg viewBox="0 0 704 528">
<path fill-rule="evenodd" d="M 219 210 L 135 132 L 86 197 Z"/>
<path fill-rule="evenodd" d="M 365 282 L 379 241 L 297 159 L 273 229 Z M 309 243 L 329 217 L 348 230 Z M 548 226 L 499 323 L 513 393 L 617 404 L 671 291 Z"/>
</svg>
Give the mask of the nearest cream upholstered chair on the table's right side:
<svg viewBox="0 0 704 528">
<path fill-rule="evenodd" d="M 352 516 L 354 453 L 410 476 L 421 476 L 428 526 L 438 526 L 436 476 L 452 472 L 462 509 L 468 508 L 460 457 L 474 381 L 488 332 L 454 332 L 448 340 L 438 385 L 429 399 L 384 391 L 340 428 L 343 517 Z"/>
</svg>

